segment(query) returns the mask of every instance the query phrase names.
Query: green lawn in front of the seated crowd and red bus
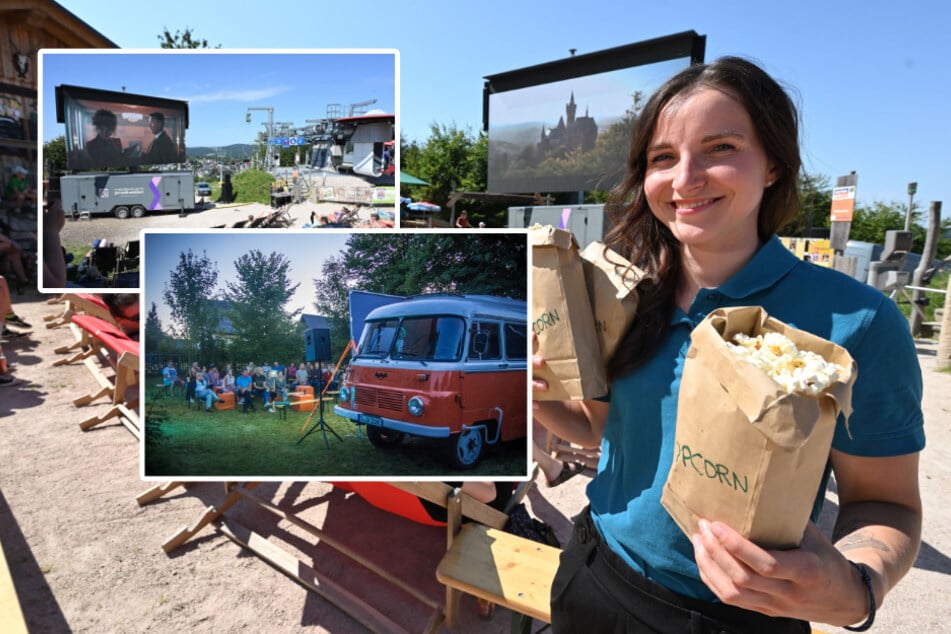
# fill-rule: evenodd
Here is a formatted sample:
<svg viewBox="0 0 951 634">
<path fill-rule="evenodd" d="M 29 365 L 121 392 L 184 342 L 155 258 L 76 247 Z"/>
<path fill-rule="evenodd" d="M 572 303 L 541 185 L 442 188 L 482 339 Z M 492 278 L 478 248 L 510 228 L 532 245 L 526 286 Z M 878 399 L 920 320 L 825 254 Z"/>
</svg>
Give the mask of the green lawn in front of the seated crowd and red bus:
<svg viewBox="0 0 951 634">
<path fill-rule="evenodd" d="M 160 381 L 160 379 L 159 379 Z M 151 380 L 147 385 L 155 385 Z M 469 471 L 454 471 L 443 456 L 442 443 L 408 437 L 400 445 L 377 449 L 357 426 L 324 406 L 319 416 L 309 412 L 280 414 L 233 410 L 206 412 L 185 403 L 184 397 L 166 397 L 161 388 L 149 388 L 145 399 L 145 475 L 159 477 L 226 478 L 241 476 L 333 478 L 393 476 L 486 478 L 524 476 L 525 439 L 490 447 L 482 463 Z M 326 436 L 326 440 L 325 440 Z M 337 438 L 339 436 L 339 439 Z"/>
</svg>

